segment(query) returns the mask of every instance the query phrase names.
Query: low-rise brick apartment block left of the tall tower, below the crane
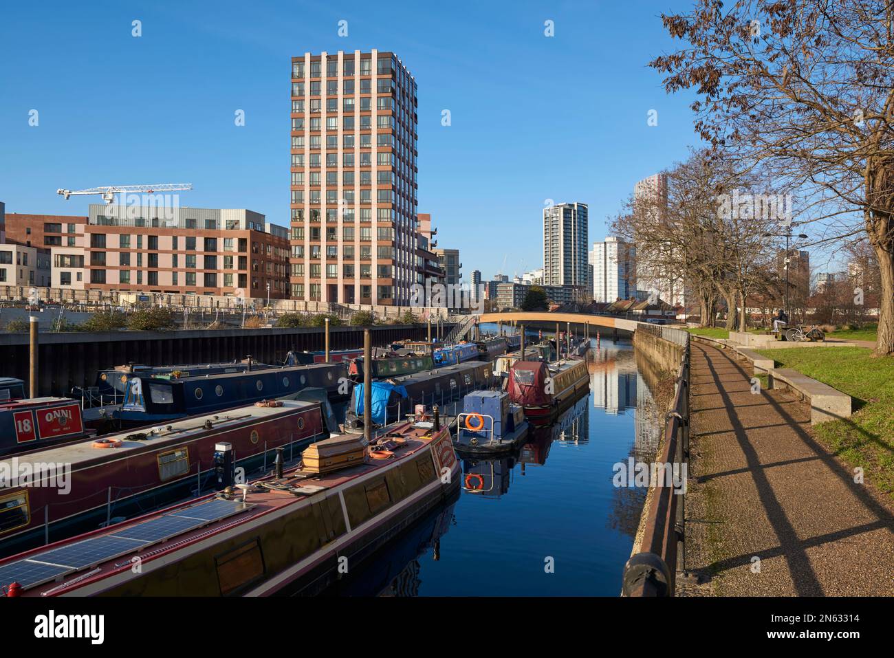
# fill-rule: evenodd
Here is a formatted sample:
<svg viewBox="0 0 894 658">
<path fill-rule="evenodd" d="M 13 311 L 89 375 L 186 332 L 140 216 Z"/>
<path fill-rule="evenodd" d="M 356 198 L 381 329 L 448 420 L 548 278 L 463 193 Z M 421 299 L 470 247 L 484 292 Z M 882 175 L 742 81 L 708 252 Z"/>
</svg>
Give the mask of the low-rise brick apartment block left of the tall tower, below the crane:
<svg viewBox="0 0 894 658">
<path fill-rule="evenodd" d="M 88 290 L 288 297 L 289 233 L 250 210 L 91 204 L 84 233 Z M 77 251 L 57 256 L 76 276 Z"/>
</svg>

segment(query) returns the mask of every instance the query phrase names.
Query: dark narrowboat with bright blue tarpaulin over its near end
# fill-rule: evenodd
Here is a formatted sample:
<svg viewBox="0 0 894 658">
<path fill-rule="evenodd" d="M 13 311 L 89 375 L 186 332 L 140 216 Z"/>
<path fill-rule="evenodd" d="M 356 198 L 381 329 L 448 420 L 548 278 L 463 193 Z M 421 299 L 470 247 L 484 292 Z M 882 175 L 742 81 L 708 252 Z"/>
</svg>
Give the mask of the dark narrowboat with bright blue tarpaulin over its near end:
<svg viewBox="0 0 894 658">
<path fill-rule="evenodd" d="M 417 404 L 427 408 L 437 404 L 444 408 L 447 403 L 460 400 L 467 392 L 490 388 L 493 382 L 491 365 L 483 361 L 467 361 L 416 375 L 374 381 L 373 423 L 375 426 L 387 425 L 410 413 Z M 343 426 L 345 432 L 363 433 L 363 386 L 354 386 L 351 393 Z"/>
</svg>

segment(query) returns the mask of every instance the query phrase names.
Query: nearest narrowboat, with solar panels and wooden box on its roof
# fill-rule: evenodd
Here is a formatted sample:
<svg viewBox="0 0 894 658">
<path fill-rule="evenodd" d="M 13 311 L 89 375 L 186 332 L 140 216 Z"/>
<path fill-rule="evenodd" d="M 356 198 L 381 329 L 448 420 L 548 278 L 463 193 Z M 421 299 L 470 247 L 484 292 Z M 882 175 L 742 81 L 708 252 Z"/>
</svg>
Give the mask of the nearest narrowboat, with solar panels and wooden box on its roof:
<svg viewBox="0 0 894 658">
<path fill-rule="evenodd" d="M 361 568 L 459 487 L 446 428 L 406 423 L 390 439 L 387 459 L 370 450 L 329 473 L 277 468 L 236 489 L 21 553 L 0 561 L 0 586 L 21 596 L 316 594 L 346 561 Z M 343 441 L 314 445 L 323 451 Z"/>
</svg>

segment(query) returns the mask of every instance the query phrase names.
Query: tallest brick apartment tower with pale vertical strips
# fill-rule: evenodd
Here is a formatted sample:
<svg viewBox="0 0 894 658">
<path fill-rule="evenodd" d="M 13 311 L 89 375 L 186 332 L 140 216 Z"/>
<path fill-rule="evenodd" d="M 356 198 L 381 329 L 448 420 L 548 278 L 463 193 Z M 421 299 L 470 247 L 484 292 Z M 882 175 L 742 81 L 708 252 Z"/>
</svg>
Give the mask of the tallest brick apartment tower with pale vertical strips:
<svg viewBox="0 0 894 658">
<path fill-rule="evenodd" d="M 417 283 L 417 85 L 372 50 L 291 59 L 291 297 L 407 305 Z"/>
</svg>

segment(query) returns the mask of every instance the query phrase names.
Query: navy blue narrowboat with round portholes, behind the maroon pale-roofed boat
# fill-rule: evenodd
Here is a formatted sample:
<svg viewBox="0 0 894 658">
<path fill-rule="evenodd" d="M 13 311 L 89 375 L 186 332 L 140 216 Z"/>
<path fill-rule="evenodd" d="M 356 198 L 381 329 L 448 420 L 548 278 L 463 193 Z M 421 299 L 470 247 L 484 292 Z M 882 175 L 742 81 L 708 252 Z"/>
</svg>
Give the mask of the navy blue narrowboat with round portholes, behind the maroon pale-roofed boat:
<svg viewBox="0 0 894 658">
<path fill-rule="evenodd" d="M 137 427 L 232 409 L 248 402 L 288 398 L 323 388 L 331 401 L 350 394 L 346 363 L 312 363 L 205 376 L 131 377 L 124 400 L 108 413 L 113 424 Z"/>
</svg>

